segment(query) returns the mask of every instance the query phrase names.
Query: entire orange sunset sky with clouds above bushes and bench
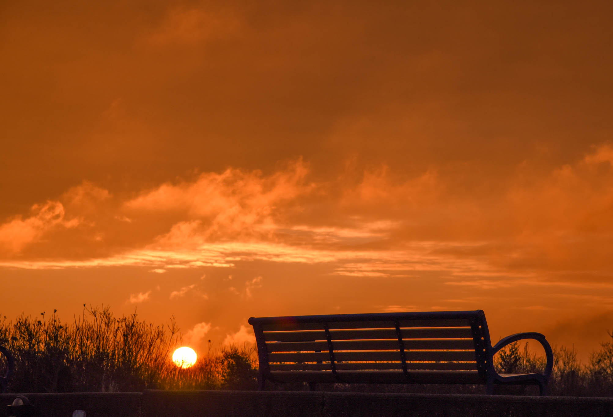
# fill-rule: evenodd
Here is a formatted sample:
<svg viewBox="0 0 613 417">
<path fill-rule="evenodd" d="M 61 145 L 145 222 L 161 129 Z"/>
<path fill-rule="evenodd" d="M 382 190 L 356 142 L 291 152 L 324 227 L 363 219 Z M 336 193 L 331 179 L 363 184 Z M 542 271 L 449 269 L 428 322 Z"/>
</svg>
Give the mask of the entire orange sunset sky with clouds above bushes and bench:
<svg viewBox="0 0 613 417">
<path fill-rule="evenodd" d="M 611 2 L 0 4 L 1 312 L 613 329 Z"/>
</svg>

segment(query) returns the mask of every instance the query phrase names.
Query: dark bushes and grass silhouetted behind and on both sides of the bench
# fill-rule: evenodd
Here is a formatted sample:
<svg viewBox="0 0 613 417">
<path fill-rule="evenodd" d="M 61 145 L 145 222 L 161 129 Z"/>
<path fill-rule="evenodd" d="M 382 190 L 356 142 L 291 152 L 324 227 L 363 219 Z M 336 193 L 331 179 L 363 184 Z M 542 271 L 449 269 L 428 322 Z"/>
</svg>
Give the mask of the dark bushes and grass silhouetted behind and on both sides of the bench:
<svg viewBox="0 0 613 417">
<path fill-rule="evenodd" d="M 85 307 L 72 323 L 51 317 L 0 318 L 0 345 L 15 359 L 11 393 L 128 392 L 143 389 L 257 389 L 255 348 L 221 347 L 181 369 L 170 353 L 181 344 L 180 329 L 171 318 L 165 326 L 140 320 L 137 314 L 116 318 L 109 307 Z M 587 364 L 574 348 L 554 347 L 552 396 L 613 396 L 613 336 L 594 351 Z M 210 341 L 209 341 L 210 344 Z M 545 358 L 526 342 L 508 345 L 494 357 L 500 373 L 543 370 Z M 0 365 L 1 369 L 6 364 Z M 533 394 L 529 386 L 499 387 L 498 394 Z M 302 384 L 267 385 L 267 389 L 307 389 Z M 406 393 L 479 393 L 465 385 L 321 384 L 330 391 Z"/>
</svg>

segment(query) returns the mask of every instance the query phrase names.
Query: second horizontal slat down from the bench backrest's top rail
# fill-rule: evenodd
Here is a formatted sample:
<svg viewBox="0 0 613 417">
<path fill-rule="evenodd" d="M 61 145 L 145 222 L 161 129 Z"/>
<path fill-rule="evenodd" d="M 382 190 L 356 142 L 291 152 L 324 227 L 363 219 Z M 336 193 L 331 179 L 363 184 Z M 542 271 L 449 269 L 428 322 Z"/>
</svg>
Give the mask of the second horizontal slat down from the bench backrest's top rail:
<svg viewBox="0 0 613 417">
<path fill-rule="evenodd" d="M 473 338 L 470 328 L 430 328 L 430 329 L 401 329 L 403 339 L 456 339 Z M 372 330 L 331 330 L 332 340 L 352 339 L 396 339 L 395 329 Z M 327 340 L 326 332 L 320 327 L 319 331 L 274 331 L 264 332 L 267 342 L 308 342 L 314 340 Z"/>
</svg>

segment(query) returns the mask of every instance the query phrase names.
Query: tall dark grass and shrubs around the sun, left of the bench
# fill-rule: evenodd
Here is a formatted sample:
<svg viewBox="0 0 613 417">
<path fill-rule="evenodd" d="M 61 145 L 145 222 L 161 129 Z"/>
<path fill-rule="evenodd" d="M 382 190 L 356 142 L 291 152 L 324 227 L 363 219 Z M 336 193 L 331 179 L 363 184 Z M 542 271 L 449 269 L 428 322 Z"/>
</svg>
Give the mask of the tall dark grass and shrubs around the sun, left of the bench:
<svg viewBox="0 0 613 417">
<path fill-rule="evenodd" d="M 221 348 L 180 369 L 171 352 L 181 341 L 174 318 L 154 326 L 136 314 L 116 318 L 108 307 L 83 306 L 72 323 L 54 310 L 0 320 L 0 344 L 15 358 L 13 393 L 142 391 L 143 389 L 253 389 L 253 350 Z"/>
</svg>

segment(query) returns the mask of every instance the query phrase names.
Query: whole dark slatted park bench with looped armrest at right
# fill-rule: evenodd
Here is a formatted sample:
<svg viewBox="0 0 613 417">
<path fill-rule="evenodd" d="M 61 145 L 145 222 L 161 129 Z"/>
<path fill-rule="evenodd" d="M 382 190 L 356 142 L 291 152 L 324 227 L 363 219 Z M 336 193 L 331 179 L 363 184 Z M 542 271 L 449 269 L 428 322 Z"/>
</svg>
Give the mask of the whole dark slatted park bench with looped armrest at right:
<svg viewBox="0 0 613 417">
<path fill-rule="evenodd" d="M 251 317 L 265 381 L 316 383 L 538 385 L 546 394 L 553 353 L 540 333 L 504 337 L 492 347 L 482 310 Z M 545 349 L 543 374 L 498 374 L 493 355 L 522 339 Z"/>
</svg>

